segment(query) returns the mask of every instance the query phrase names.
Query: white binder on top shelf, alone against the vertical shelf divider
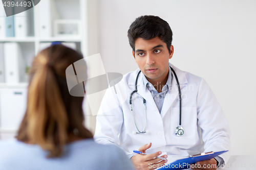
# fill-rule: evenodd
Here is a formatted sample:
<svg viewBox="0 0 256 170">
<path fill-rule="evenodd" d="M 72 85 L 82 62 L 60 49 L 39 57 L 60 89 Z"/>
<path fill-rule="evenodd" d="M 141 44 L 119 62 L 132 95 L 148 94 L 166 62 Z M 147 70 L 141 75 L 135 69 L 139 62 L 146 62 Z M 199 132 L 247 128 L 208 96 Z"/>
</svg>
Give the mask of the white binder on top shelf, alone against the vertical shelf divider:
<svg viewBox="0 0 256 170">
<path fill-rule="evenodd" d="M 39 35 L 42 38 L 49 38 L 52 36 L 52 21 L 57 19 L 59 16 L 55 9 L 55 4 L 52 0 L 40 1 L 38 11 Z"/>
</svg>

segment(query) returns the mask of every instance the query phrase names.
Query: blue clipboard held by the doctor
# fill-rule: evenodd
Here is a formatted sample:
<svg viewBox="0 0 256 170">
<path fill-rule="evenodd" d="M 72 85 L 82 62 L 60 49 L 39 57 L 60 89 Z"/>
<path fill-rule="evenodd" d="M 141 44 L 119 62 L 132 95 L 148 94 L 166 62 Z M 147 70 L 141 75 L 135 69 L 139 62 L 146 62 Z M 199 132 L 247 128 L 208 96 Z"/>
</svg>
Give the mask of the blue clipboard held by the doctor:
<svg viewBox="0 0 256 170">
<path fill-rule="evenodd" d="M 184 159 L 178 159 L 172 163 L 169 163 L 168 165 L 164 165 L 160 167 L 159 169 L 187 169 L 190 168 L 190 164 L 197 163 L 198 161 L 208 160 L 215 158 L 218 155 L 221 155 L 227 151 L 221 151 L 221 152 L 208 152 L 208 153 L 201 153 L 198 155 L 189 156 L 188 158 Z"/>
</svg>

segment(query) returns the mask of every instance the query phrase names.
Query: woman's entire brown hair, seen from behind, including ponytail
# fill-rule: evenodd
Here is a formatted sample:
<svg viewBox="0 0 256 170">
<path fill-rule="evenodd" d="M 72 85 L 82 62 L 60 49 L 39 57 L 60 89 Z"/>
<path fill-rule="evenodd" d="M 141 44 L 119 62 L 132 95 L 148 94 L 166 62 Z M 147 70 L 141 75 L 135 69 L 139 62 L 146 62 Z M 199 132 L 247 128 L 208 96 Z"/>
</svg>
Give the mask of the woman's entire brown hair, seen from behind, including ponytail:
<svg viewBox="0 0 256 170">
<path fill-rule="evenodd" d="M 74 130 L 80 138 L 93 135 L 83 126 L 83 97 L 69 94 L 66 68 L 82 55 L 63 45 L 41 51 L 33 60 L 25 116 L 17 139 L 38 144 L 48 157 L 59 157 Z"/>
</svg>

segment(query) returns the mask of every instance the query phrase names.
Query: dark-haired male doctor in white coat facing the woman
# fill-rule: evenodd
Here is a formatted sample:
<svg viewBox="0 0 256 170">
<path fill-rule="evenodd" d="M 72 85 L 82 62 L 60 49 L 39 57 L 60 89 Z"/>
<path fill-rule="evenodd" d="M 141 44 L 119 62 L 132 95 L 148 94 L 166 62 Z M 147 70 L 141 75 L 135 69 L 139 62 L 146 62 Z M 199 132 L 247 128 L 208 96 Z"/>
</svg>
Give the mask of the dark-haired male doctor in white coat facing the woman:
<svg viewBox="0 0 256 170">
<path fill-rule="evenodd" d="M 160 17 L 136 18 L 128 37 L 139 69 L 106 91 L 97 115 L 95 141 L 122 148 L 136 169 L 163 165 L 166 160 L 156 158 L 159 155 L 185 157 L 230 150 L 227 119 L 206 81 L 169 63 L 174 54 L 172 36 L 168 23 Z M 181 117 L 175 73 L 181 89 Z M 182 132 L 177 134 L 179 127 Z M 135 155 L 133 150 L 150 155 Z M 199 164 L 200 169 L 216 169 L 228 158 L 226 152 L 197 162 L 194 169 L 199 169 Z"/>
</svg>

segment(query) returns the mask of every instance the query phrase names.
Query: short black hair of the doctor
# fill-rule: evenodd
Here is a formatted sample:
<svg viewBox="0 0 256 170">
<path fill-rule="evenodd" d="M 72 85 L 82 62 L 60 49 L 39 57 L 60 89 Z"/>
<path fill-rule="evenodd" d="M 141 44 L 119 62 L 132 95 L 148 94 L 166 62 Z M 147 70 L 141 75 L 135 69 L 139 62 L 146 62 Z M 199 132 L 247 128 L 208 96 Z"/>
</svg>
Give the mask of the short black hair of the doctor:
<svg viewBox="0 0 256 170">
<path fill-rule="evenodd" d="M 135 41 L 137 38 L 150 40 L 159 37 L 167 45 L 170 52 L 170 45 L 172 45 L 173 32 L 168 23 L 159 16 L 144 15 L 135 19 L 127 32 L 129 43 L 135 51 Z"/>
</svg>

